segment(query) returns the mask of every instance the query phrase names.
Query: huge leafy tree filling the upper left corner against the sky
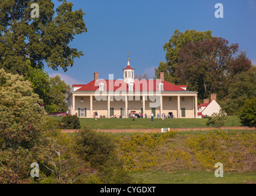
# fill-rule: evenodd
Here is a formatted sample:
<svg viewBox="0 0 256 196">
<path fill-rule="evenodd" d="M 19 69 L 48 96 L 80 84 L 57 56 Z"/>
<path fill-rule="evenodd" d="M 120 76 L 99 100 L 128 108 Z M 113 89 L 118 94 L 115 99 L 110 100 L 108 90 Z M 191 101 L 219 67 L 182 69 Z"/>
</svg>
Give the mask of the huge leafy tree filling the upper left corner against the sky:
<svg viewBox="0 0 256 196">
<path fill-rule="evenodd" d="M 74 36 L 87 32 L 85 13 L 81 9 L 73 11 L 71 2 L 60 1 L 56 11 L 52 1 L 36 1 L 39 18 L 31 17 L 34 1 L 0 2 L 0 68 L 27 75 L 29 60 L 33 68 L 42 69 L 46 62 L 53 70 L 61 67 L 66 71 L 74 64 L 74 58 L 83 55 L 68 45 Z"/>
</svg>

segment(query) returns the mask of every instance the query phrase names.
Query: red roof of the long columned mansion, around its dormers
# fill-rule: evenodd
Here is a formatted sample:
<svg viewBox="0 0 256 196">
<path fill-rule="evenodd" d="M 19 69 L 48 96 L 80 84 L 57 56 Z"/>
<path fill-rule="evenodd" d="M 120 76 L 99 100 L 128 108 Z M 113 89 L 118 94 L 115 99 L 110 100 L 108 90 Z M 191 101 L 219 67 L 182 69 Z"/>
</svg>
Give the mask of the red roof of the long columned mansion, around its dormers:
<svg viewBox="0 0 256 196">
<path fill-rule="evenodd" d="M 104 91 L 128 91 L 128 84 L 123 80 L 93 80 L 87 85 L 83 85 L 77 91 L 96 91 L 99 83 L 104 83 Z M 134 91 L 158 91 L 160 80 L 134 80 Z M 173 85 L 168 81 L 163 81 L 164 91 L 186 91 L 179 86 Z M 74 85 L 73 85 L 74 86 Z"/>
</svg>

